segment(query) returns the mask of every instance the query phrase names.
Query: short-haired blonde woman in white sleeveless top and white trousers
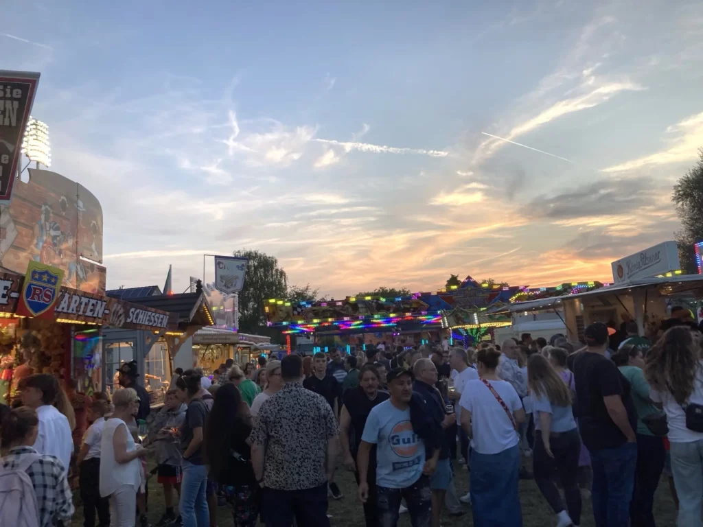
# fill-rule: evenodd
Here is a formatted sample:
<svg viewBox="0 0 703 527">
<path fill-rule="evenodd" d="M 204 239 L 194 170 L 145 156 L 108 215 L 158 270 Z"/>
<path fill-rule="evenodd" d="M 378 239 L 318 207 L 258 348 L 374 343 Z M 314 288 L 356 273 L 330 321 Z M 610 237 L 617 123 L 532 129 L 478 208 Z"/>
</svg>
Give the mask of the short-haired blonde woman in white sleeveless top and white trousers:
<svg viewBox="0 0 703 527">
<path fill-rule="evenodd" d="M 134 443 L 127 422 L 139 410 L 136 391 L 125 388 L 112 396 L 115 412 L 103 425 L 100 449 L 100 495 L 110 500 L 112 527 L 134 527 L 136 493 L 141 485 L 141 462 L 146 450 Z"/>
</svg>

